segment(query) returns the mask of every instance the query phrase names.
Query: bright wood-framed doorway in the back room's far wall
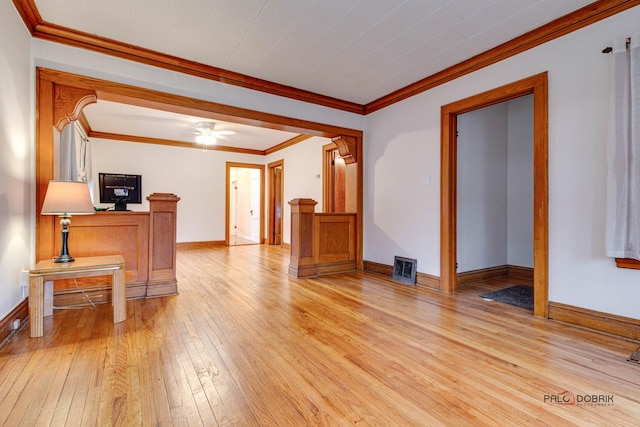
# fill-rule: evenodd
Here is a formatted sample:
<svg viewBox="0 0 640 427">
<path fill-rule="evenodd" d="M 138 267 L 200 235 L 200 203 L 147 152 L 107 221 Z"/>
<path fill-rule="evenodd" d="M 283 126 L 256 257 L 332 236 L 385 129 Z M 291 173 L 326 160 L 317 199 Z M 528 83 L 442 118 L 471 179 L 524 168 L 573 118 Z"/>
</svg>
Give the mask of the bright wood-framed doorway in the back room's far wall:
<svg viewBox="0 0 640 427">
<path fill-rule="evenodd" d="M 227 162 L 226 244 L 264 242 L 264 166 Z"/>
</svg>

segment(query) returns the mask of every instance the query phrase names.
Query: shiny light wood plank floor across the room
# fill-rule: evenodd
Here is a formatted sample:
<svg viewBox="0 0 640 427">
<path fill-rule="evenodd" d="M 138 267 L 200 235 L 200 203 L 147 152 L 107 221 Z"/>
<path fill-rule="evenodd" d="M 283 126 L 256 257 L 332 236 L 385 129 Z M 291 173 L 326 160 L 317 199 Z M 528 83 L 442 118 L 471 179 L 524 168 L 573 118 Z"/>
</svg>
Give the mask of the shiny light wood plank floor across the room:
<svg viewBox="0 0 640 427">
<path fill-rule="evenodd" d="M 0 349 L 0 425 L 638 425 L 638 343 L 282 249 L 178 253 L 180 295 L 56 311 Z M 611 396 L 560 405 L 545 396 Z"/>
</svg>

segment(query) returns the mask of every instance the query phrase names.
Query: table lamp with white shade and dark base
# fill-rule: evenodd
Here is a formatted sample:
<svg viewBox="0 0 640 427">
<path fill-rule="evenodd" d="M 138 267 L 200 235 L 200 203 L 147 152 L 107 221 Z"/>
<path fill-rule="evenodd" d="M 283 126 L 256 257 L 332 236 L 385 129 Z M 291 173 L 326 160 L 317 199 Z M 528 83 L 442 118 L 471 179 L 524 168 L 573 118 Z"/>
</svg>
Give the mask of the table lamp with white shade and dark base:
<svg viewBox="0 0 640 427">
<path fill-rule="evenodd" d="M 49 181 L 47 194 L 42 204 L 43 215 L 59 215 L 62 226 L 62 248 L 60 256 L 54 262 L 72 262 L 67 242 L 69 240 L 69 224 L 71 214 L 88 215 L 95 213 L 89 186 L 84 182 Z"/>
</svg>

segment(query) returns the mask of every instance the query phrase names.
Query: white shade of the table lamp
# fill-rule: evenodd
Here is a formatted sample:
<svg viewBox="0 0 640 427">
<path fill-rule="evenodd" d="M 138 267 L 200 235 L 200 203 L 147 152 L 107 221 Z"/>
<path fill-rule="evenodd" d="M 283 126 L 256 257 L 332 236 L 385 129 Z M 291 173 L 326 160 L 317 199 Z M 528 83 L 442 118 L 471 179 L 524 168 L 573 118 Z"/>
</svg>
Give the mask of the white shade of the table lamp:
<svg viewBox="0 0 640 427">
<path fill-rule="evenodd" d="M 49 181 L 42 204 L 43 215 L 88 215 L 95 213 L 89 186 L 84 182 Z"/>
</svg>

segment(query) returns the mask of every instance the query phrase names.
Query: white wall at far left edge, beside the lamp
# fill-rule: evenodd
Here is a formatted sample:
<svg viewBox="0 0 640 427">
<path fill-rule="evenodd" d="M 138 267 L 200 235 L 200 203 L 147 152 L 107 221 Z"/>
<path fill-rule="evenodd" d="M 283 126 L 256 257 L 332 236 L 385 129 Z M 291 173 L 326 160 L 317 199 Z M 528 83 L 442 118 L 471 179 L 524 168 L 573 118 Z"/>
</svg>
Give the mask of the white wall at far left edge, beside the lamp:
<svg viewBox="0 0 640 427">
<path fill-rule="evenodd" d="M 22 301 L 20 271 L 34 253 L 31 64 L 30 35 L 13 4 L 0 2 L 0 319 Z"/>
</svg>

